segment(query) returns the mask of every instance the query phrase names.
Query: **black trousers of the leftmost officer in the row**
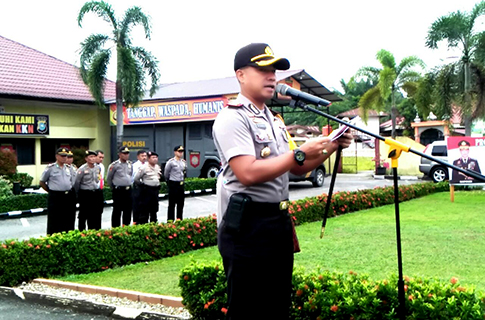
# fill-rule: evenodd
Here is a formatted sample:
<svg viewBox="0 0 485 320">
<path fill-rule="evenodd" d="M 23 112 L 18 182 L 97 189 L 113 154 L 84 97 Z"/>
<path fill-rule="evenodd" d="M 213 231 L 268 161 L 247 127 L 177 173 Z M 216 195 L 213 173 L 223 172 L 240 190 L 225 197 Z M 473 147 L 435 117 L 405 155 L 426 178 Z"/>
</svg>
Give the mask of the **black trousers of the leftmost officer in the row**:
<svg viewBox="0 0 485 320">
<path fill-rule="evenodd" d="M 47 234 L 74 230 L 76 193 L 49 190 L 47 197 Z"/>
</svg>

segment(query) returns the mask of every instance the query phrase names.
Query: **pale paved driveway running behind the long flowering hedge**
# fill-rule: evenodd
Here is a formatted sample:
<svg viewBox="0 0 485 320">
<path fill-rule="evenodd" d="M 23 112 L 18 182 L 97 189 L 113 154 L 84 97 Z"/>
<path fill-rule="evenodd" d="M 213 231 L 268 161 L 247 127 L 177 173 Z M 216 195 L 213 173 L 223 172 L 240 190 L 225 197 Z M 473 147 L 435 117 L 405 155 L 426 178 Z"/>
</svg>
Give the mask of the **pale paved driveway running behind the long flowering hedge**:
<svg viewBox="0 0 485 320">
<path fill-rule="evenodd" d="M 423 182 L 422 180 L 399 180 L 399 184 L 412 184 Z M 393 185 L 392 180 L 374 179 L 371 173 L 362 174 L 339 174 L 335 183 L 334 192 L 357 191 Z M 325 179 L 322 187 L 314 188 L 310 182 L 298 182 L 290 184 L 290 200 L 314 197 L 322 193 L 328 193 L 330 177 Z M 158 220 L 167 220 L 168 200 L 159 202 Z M 217 198 L 215 194 L 188 197 L 185 199 L 184 217 L 194 218 L 208 216 L 217 210 Z M 105 207 L 103 213 L 102 228 L 111 227 L 111 207 Z M 31 237 L 45 236 L 47 216 L 33 216 L 27 218 L 13 218 L 0 220 L 0 241 L 6 239 L 29 239 Z M 76 225 L 77 226 L 77 225 Z"/>
</svg>

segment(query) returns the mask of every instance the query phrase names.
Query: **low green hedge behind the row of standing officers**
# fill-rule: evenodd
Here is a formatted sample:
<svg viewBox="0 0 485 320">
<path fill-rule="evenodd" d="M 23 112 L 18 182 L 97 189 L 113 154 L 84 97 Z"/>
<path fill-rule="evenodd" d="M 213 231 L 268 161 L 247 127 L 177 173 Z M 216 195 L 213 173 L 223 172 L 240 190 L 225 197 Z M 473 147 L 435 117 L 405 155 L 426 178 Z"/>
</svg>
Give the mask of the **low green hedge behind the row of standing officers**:
<svg viewBox="0 0 485 320">
<path fill-rule="evenodd" d="M 216 179 L 198 179 L 189 178 L 185 182 L 185 191 L 205 190 L 216 188 Z M 160 193 L 167 193 L 167 184 L 162 182 L 160 185 Z M 111 200 L 113 198 L 111 189 L 106 187 L 103 189 L 104 199 Z M 5 199 L 0 199 L 0 213 L 29 210 L 36 208 L 47 208 L 47 194 L 24 194 L 11 196 Z"/>
</svg>

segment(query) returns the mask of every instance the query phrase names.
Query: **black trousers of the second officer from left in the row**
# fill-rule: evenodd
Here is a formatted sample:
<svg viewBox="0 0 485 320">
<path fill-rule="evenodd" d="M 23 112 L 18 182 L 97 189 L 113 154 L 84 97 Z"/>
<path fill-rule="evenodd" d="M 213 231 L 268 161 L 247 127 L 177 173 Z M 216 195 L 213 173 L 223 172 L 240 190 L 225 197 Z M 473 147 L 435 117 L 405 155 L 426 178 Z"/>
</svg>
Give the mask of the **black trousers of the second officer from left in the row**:
<svg viewBox="0 0 485 320">
<path fill-rule="evenodd" d="M 80 231 L 101 229 L 101 216 L 104 209 L 103 190 L 79 190 L 79 223 Z M 86 228 L 87 223 L 87 228 Z"/>
</svg>

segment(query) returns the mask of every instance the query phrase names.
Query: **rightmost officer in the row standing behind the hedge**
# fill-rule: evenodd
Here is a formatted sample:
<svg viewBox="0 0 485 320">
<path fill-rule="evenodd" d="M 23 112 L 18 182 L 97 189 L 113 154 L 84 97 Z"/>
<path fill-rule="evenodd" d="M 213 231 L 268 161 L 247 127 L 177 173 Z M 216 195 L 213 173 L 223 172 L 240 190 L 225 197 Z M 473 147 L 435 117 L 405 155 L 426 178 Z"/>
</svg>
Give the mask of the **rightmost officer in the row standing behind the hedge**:
<svg viewBox="0 0 485 320">
<path fill-rule="evenodd" d="M 174 157 L 165 165 L 164 176 L 168 186 L 168 213 L 167 220 L 175 220 L 175 205 L 177 205 L 177 219 L 183 219 L 184 213 L 184 178 L 187 164 L 182 158 L 184 147 L 176 146 L 173 149 Z"/>
</svg>

